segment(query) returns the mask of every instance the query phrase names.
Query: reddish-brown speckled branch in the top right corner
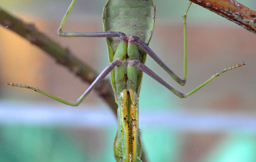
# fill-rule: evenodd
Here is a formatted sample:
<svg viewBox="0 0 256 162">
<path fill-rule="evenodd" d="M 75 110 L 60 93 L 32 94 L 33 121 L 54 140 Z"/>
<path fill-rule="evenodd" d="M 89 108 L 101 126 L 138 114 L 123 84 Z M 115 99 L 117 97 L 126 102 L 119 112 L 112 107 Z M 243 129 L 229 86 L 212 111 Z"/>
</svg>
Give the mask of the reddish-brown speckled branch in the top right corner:
<svg viewBox="0 0 256 162">
<path fill-rule="evenodd" d="M 236 0 L 189 0 L 256 34 L 256 11 Z"/>
</svg>

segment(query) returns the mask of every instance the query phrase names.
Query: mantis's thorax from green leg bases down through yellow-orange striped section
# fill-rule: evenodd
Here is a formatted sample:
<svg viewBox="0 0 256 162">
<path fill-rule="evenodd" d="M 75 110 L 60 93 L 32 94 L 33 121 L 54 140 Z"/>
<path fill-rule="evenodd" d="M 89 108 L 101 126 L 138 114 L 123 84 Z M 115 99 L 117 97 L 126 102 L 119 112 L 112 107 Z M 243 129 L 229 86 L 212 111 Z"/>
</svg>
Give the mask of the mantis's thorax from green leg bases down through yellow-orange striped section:
<svg viewBox="0 0 256 162">
<path fill-rule="evenodd" d="M 122 65 L 114 68 L 114 89 L 118 103 L 118 131 L 114 139 L 114 157 L 117 162 L 140 162 L 141 149 L 138 137 L 138 78 L 141 71 L 131 66 L 131 60 L 140 60 L 140 53 L 135 39 L 127 41 L 121 37 L 120 43 L 113 56 Z M 127 90 L 128 89 L 128 90 Z M 138 159 L 138 160 L 137 160 Z"/>
</svg>

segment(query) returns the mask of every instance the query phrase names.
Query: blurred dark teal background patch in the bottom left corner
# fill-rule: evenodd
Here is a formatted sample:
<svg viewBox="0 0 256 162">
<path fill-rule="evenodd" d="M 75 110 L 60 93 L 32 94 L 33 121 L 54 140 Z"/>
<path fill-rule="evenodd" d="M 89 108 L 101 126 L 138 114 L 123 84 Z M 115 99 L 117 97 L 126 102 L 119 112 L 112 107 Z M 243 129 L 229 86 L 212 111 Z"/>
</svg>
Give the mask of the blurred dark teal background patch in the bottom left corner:
<svg viewBox="0 0 256 162">
<path fill-rule="evenodd" d="M 58 128 L 0 126 L 1 162 L 84 162 L 81 145 Z"/>
</svg>

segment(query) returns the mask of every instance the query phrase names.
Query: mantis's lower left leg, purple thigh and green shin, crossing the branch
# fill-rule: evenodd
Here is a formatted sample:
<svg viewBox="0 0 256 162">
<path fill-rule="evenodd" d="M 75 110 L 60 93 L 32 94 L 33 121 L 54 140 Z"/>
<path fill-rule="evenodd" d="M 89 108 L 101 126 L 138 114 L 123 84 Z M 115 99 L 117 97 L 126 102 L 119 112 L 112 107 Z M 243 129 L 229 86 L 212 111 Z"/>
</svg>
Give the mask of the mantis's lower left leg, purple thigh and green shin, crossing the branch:
<svg viewBox="0 0 256 162">
<path fill-rule="evenodd" d="M 71 102 L 67 102 L 63 99 L 60 99 L 58 97 L 55 97 L 53 95 L 50 95 L 46 92 L 43 92 L 42 90 L 38 89 L 38 88 L 34 88 L 34 87 L 29 87 L 27 85 L 20 85 L 20 84 L 14 84 L 14 83 L 8 83 L 7 85 L 10 85 L 10 86 L 13 86 L 13 87 L 21 87 L 21 88 L 27 88 L 27 89 L 32 89 L 36 92 L 39 92 L 41 94 L 44 94 L 48 97 L 51 97 L 52 99 L 55 99 L 56 101 L 59 101 L 63 104 L 66 104 L 66 105 L 70 105 L 70 106 L 78 106 L 82 101 L 84 101 L 85 97 L 87 97 L 87 95 L 92 91 L 92 89 L 94 89 L 94 87 L 99 83 L 101 82 L 101 80 L 103 78 L 105 78 L 108 73 L 111 72 L 111 70 L 113 70 L 113 68 L 115 66 L 120 66 L 122 65 L 122 62 L 119 61 L 119 60 L 115 60 L 113 62 L 111 62 L 106 68 L 104 68 L 104 70 L 99 74 L 99 76 L 94 80 L 94 82 L 90 85 L 90 87 L 88 87 L 88 89 L 84 92 L 84 94 L 82 94 L 75 102 L 71 103 Z"/>
</svg>

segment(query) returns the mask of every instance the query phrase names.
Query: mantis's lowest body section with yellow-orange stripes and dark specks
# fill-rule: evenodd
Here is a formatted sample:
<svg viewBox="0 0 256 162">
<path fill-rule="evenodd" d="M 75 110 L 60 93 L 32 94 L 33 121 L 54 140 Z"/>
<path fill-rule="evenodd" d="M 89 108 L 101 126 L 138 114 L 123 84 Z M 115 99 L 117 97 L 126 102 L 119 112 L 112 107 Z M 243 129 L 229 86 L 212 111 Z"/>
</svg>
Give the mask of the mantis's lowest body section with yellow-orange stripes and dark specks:
<svg viewBox="0 0 256 162">
<path fill-rule="evenodd" d="M 125 89 L 118 96 L 118 130 L 114 139 L 117 162 L 140 162 L 141 145 L 138 138 L 138 96 Z"/>
</svg>

